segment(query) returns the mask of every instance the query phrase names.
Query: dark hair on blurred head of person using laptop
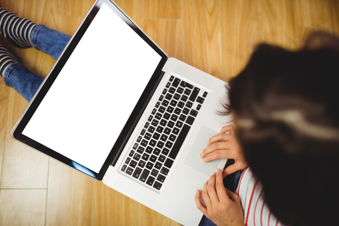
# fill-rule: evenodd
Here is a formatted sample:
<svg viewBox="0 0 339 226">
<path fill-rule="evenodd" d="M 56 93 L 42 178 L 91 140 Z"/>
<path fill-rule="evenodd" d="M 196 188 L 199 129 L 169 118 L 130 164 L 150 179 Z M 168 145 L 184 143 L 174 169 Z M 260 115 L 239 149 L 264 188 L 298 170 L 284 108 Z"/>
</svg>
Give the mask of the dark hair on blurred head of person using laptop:
<svg viewBox="0 0 339 226">
<path fill-rule="evenodd" d="M 260 44 L 229 83 L 223 114 L 234 113 L 265 202 L 287 225 L 338 224 L 338 50 L 326 33 L 298 51 Z"/>
</svg>

